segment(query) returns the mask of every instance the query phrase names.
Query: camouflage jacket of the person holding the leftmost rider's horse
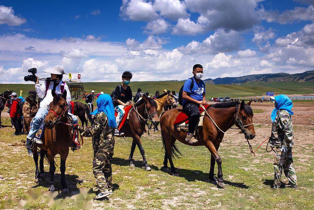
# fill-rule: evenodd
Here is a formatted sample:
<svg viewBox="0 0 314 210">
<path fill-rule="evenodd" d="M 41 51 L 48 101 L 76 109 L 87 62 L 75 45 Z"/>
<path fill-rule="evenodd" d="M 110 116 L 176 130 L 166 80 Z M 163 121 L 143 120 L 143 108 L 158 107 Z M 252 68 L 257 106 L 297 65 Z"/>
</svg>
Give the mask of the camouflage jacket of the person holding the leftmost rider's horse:
<svg viewBox="0 0 314 210">
<path fill-rule="evenodd" d="M 101 147 L 101 150 L 111 151 L 114 146 L 114 132 L 115 128 L 111 128 L 108 125 L 108 117 L 104 112 L 100 112 L 95 115 L 94 123 L 90 128 L 78 126 L 78 131 L 82 136 L 93 137 L 94 150 Z"/>
</svg>

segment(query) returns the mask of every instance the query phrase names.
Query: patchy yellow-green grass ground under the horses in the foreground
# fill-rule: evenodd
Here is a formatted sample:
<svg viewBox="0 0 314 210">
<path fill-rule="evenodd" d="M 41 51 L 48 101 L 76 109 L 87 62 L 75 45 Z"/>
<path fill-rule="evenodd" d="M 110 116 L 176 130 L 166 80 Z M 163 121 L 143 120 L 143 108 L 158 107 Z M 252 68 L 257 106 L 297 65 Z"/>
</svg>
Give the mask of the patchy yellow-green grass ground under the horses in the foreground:
<svg viewBox="0 0 314 210">
<path fill-rule="evenodd" d="M 259 111 L 257 111 L 259 112 Z M 4 117 L 3 123 L 10 124 Z M 265 126 L 255 129 L 258 137 L 252 140 L 256 148 L 265 133 Z M 270 128 L 267 127 L 269 130 Z M 7 196 L 17 200 L 27 199 L 27 189 L 36 188 L 47 191 L 49 174 L 40 184 L 34 182 L 35 166 L 32 157 L 26 156 L 21 145 L 24 136 L 11 137 L 13 129 L 0 129 L 0 202 L 2 205 L 15 205 L 7 202 Z M 128 166 L 128 156 L 132 139 L 116 138 L 113 158 L 114 193 L 109 200 L 92 201 L 94 209 L 313 209 L 313 144 L 297 145 L 294 148 L 294 161 L 297 170 L 299 189 L 273 191 L 273 156 L 262 147 L 253 157 L 246 140 L 239 134 L 225 135 L 219 154 L 222 157 L 226 187 L 219 189 L 208 183 L 210 153 L 205 147 L 193 147 L 177 143 L 183 156 L 174 161 L 179 177 L 173 177 L 160 171 L 164 159 L 164 150 L 160 132 L 144 134 L 143 147 L 148 163 L 152 167 L 147 172 L 141 167 L 142 156 L 138 148 L 134 153 L 136 167 Z M 297 135 L 298 130 L 296 129 Z M 258 139 L 257 139 L 258 138 Z M 263 138 L 264 139 L 264 138 Z M 83 148 L 78 152 L 70 151 L 67 159 L 66 180 L 69 190 L 93 188 L 95 179 L 92 173 L 93 150 L 91 138 L 84 138 Z M 49 171 L 45 161 L 45 171 Z M 57 165 L 60 165 L 57 159 Z M 60 170 L 57 166 L 55 186 L 60 187 Z M 169 166 L 169 165 L 168 165 Z M 217 167 L 215 168 L 217 174 Z M 94 195 L 95 196 L 95 195 Z M 57 200 L 58 201 L 58 197 Z M 67 209 L 75 205 L 66 201 Z M 30 203 L 30 209 L 48 209 L 49 205 L 41 200 Z"/>
</svg>

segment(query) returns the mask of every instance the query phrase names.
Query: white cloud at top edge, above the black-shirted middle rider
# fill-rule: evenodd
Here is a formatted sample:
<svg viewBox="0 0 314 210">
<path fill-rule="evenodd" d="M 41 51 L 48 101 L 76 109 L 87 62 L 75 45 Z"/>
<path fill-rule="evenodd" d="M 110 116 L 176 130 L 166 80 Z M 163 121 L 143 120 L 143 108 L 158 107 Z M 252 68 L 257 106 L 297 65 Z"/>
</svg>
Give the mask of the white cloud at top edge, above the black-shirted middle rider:
<svg viewBox="0 0 314 210">
<path fill-rule="evenodd" d="M 125 20 L 152 21 L 158 19 L 158 14 L 151 2 L 144 0 L 122 0 L 120 16 Z"/>
</svg>

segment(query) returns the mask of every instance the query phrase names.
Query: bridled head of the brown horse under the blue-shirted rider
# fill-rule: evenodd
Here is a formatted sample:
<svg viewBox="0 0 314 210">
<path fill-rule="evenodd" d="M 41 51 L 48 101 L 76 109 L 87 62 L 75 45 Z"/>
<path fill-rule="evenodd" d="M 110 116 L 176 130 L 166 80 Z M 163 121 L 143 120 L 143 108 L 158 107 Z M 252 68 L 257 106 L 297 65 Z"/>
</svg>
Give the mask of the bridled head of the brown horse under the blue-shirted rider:
<svg viewBox="0 0 314 210">
<path fill-rule="evenodd" d="M 252 120 L 253 110 L 250 106 L 251 102 L 252 100 L 250 100 L 247 104 L 245 104 L 244 101 L 242 101 L 241 104 L 238 106 L 237 114 L 236 114 L 240 119 L 240 121 L 236 120 L 236 126 L 241 129 L 246 139 L 254 139 L 255 137 L 255 130 L 254 130 L 253 120 Z"/>
</svg>

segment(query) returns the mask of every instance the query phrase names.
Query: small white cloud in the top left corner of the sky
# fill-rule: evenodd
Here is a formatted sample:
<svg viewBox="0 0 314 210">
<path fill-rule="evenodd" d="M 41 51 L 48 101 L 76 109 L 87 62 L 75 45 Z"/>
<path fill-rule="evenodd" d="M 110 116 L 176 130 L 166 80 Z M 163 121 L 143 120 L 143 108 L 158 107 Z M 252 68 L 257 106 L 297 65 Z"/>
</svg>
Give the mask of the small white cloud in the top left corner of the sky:
<svg viewBox="0 0 314 210">
<path fill-rule="evenodd" d="M 20 26 L 25 23 L 25 18 L 19 15 L 14 15 L 12 7 L 0 5 L 0 24 L 7 24 L 8 26 Z"/>
</svg>

